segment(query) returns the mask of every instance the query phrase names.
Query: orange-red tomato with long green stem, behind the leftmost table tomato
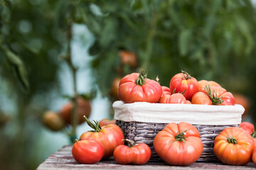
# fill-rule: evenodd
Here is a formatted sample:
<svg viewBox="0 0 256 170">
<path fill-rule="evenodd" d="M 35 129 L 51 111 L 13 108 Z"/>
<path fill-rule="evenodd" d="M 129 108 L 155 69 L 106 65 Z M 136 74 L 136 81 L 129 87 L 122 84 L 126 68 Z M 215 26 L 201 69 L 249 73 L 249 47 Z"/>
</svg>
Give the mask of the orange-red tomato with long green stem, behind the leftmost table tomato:
<svg viewBox="0 0 256 170">
<path fill-rule="evenodd" d="M 84 132 L 79 139 L 83 137 L 91 137 L 97 142 L 100 142 L 105 148 L 105 153 L 102 159 L 107 159 L 113 156 L 114 148 L 118 145 L 124 145 L 124 133 L 118 125 L 110 124 L 100 127 L 98 122 L 92 123 L 87 118 L 87 124 L 95 131 Z"/>
</svg>

